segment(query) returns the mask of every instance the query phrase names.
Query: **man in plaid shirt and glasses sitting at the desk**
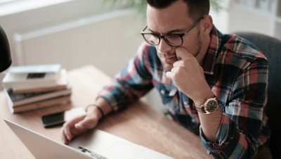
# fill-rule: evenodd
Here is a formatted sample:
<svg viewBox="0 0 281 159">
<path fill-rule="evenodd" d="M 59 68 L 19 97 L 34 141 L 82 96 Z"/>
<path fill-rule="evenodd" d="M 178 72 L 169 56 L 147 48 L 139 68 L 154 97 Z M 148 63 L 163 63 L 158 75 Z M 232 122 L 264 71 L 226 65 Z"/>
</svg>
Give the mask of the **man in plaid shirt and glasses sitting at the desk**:
<svg viewBox="0 0 281 159">
<path fill-rule="evenodd" d="M 147 1 L 147 43 L 86 115 L 65 123 L 62 140 L 67 144 L 156 87 L 174 120 L 199 132 L 214 158 L 254 156 L 268 135 L 266 58 L 245 39 L 216 30 L 209 0 Z"/>
</svg>

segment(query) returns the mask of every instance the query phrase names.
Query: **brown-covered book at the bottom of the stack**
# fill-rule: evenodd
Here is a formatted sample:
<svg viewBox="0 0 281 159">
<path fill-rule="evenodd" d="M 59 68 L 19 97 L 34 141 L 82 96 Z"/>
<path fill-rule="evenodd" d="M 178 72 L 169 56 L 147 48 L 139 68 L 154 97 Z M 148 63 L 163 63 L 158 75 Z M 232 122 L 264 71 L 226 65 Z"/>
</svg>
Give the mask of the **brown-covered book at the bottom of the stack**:
<svg viewBox="0 0 281 159">
<path fill-rule="evenodd" d="M 39 108 L 46 108 L 50 106 L 60 106 L 70 103 L 70 95 L 67 96 L 58 96 L 55 98 L 47 99 L 44 101 L 39 101 L 35 103 L 29 103 L 22 106 L 13 106 L 13 103 L 8 103 L 8 107 L 11 113 L 20 113 L 25 112 L 27 110 L 35 110 Z"/>
</svg>

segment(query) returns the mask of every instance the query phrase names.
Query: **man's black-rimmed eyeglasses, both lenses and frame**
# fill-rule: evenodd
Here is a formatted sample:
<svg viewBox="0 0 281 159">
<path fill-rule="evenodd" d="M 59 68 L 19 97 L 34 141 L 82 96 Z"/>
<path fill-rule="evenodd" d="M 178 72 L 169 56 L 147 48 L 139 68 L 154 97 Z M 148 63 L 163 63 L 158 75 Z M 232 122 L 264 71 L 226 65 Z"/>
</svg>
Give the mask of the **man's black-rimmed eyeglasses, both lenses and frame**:
<svg viewBox="0 0 281 159">
<path fill-rule="evenodd" d="M 171 46 L 181 46 L 183 44 L 183 36 L 188 34 L 188 32 L 190 32 L 190 30 L 192 30 L 203 18 L 204 17 L 201 17 L 196 20 L 195 23 L 193 23 L 183 34 L 156 34 L 152 32 L 145 32 L 145 30 L 148 28 L 148 25 L 146 25 L 141 31 L 141 34 L 143 35 L 145 42 L 151 45 L 158 45 L 160 40 L 164 39 L 164 41 Z"/>
</svg>

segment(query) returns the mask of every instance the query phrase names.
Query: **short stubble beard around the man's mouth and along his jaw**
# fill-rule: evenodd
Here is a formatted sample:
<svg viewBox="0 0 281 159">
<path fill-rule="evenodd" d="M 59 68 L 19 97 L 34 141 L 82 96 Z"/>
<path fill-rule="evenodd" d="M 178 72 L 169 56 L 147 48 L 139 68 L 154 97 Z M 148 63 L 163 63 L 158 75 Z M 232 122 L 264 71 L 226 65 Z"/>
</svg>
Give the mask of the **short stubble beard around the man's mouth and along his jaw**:
<svg viewBox="0 0 281 159">
<path fill-rule="evenodd" d="M 193 46 L 192 53 L 193 56 L 197 56 L 202 48 L 202 40 L 200 38 L 200 30 L 197 32 L 196 42 Z M 174 50 L 174 49 L 173 49 Z M 171 71 L 174 68 L 174 62 L 178 61 L 179 59 L 176 57 L 176 52 L 173 53 L 157 53 L 158 58 L 160 59 L 162 66 L 166 72 Z M 170 57 L 170 58 L 167 58 Z"/>
</svg>

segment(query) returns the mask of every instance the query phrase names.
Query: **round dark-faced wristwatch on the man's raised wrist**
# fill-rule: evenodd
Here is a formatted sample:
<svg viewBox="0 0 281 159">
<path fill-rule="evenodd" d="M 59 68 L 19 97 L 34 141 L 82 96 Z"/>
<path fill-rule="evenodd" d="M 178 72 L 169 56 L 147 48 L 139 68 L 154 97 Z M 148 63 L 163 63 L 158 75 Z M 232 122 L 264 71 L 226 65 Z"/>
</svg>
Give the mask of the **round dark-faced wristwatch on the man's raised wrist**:
<svg viewBox="0 0 281 159">
<path fill-rule="evenodd" d="M 204 104 L 200 106 L 196 106 L 195 104 L 195 108 L 197 111 L 202 112 L 204 114 L 214 113 L 214 111 L 216 111 L 216 109 L 218 108 L 218 101 L 216 101 L 216 97 L 207 98 Z"/>
</svg>

